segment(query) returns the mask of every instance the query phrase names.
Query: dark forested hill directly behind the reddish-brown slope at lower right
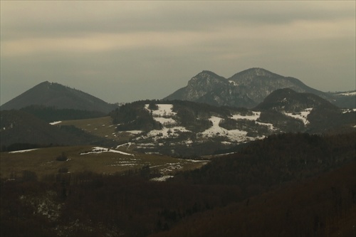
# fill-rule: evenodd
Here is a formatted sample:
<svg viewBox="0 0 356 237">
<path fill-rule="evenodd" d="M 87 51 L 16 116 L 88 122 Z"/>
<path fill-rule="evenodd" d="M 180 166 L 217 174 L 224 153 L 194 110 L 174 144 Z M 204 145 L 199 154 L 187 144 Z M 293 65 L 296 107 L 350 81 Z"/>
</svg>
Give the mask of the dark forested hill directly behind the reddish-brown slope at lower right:
<svg viewBox="0 0 356 237">
<path fill-rule="evenodd" d="M 250 142 L 241 152 L 212 159 L 176 179 L 193 184 L 238 185 L 244 194 L 265 191 L 288 181 L 313 177 L 355 159 L 354 133 L 320 137 L 308 134 L 271 135 Z"/>
</svg>

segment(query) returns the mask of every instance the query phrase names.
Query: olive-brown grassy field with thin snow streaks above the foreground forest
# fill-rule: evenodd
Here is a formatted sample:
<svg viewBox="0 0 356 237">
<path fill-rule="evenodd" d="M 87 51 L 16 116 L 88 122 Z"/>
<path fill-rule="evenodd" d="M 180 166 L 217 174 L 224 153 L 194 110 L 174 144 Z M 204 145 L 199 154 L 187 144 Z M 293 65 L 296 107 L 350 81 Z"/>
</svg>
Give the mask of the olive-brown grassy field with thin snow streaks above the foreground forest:
<svg viewBox="0 0 356 237">
<path fill-rule="evenodd" d="M 57 174 L 58 169 L 67 168 L 68 172 L 90 171 L 95 173 L 112 174 L 125 172 L 129 169 L 140 169 L 145 165 L 151 169 L 158 169 L 164 175 L 174 175 L 177 171 L 196 169 L 206 164 L 206 161 L 194 161 L 189 159 L 177 159 L 156 154 L 138 154 L 128 152 L 131 155 L 117 152 L 88 153 L 92 146 L 78 147 L 49 147 L 31 150 L 28 152 L 1 152 L 0 153 L 0 177 L 10 178 L 21 175 L 28 170 L 36 172 L 39 178 L 46 174 Z M 112 151 L 112 150 L 111 150 Z M 68 160 L 60 162 L 56 157 L 65 153 Z"/>
</svg>

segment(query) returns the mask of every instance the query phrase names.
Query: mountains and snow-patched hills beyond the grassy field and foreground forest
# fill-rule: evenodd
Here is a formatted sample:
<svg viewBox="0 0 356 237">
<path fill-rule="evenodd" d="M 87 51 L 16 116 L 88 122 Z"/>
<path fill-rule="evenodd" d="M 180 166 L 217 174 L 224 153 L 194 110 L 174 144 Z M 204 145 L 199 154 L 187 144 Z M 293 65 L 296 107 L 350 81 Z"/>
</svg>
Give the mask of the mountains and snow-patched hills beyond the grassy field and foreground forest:
<svg viewBox="0 0 356 237">
<path fill-rule="evenodd" d="M 112 141 L 108 135 L 93 137 L 75 127 L 48 125 L 110 115 L 115 137 L 128 135 L 130 149 L 173 156 L 213 154 L 276 133 L 355 130 L 355 109 L 340 109 L 336 97 L 345 102 L 345 98 L 355 98 L 355 93 L 323 93 L 261 68 L 229 79 L 203 71 L 164 100 L 120 107 L 44 82 L 1 106 L 1 145 L 100 142 L 115 146 L 115 141 L 123 139 Z"/>
</svg>

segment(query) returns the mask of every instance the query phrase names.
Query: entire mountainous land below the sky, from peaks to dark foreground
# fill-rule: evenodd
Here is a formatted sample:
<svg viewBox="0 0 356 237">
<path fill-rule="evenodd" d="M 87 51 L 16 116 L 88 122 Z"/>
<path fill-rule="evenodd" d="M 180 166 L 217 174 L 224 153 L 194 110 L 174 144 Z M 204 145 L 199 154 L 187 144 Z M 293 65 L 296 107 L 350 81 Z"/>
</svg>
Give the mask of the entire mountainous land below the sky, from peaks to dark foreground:
<svg viewBox="0 0 356 237">
<path fill-rule="evenodd" d="M 45 82 L 1 106 L 0 236 L 355 236 L 355 92 L 260 68 L 188 84 L 116 106 Z"/>
</svg>

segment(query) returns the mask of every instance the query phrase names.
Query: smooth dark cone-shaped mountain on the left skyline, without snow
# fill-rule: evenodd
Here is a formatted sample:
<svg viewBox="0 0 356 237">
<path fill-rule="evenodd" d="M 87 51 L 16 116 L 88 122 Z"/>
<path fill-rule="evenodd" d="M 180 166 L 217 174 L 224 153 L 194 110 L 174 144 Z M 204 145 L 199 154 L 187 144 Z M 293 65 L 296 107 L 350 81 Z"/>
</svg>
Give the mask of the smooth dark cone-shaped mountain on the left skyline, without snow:
<svg viewBox="0 0 356 237">
<path fill-rule="evenodd" d="M 58 109 L 110 112 L 115 105 L 58 83 L 45 81 L 1 105 L 1 110 L 19 110 L 29 105 L 44 105 Z"/>
</svg>

